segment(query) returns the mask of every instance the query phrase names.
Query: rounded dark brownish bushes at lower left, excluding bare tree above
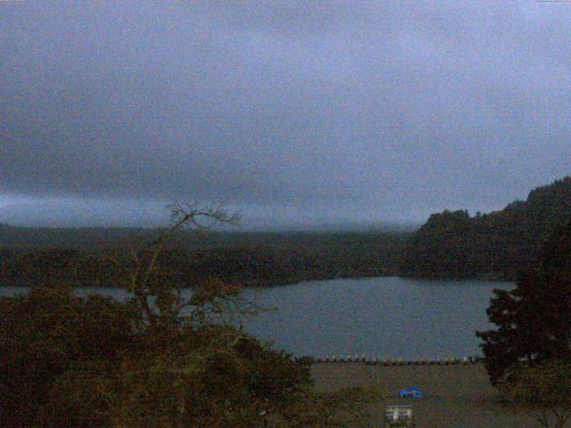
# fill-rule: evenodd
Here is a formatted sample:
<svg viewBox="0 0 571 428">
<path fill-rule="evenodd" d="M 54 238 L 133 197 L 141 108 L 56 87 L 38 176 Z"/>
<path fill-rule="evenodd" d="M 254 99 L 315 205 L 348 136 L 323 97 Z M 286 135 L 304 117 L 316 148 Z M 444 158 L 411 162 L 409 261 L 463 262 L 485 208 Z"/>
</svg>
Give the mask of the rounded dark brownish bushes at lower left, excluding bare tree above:
<svg viewBox="0 0 571 428">
<path fill-rule="evenodd" d="M 1 299 L 0 426 L 253 426 L 310 386 L 307 363 L 239 330 L 153 331 L 135 308 L 60 287 Z"/>
</svg>

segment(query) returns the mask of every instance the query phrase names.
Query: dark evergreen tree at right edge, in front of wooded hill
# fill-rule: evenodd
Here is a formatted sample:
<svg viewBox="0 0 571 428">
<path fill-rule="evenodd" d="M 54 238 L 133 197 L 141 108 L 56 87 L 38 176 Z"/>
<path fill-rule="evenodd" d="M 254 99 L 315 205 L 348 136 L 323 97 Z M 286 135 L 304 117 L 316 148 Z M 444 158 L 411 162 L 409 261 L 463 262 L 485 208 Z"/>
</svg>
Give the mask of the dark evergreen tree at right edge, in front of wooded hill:
<svg viewBox="0 0 571 428">
<path fill-rule="evenodd" d="M 571 358 L 571 221 L 513 291 L 494 292 L 487 314 L 497 329 L 477 333 L 492 383 L 509 381 L 522 362 Z"/>
</svg>

